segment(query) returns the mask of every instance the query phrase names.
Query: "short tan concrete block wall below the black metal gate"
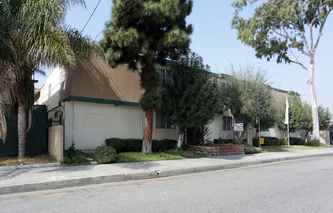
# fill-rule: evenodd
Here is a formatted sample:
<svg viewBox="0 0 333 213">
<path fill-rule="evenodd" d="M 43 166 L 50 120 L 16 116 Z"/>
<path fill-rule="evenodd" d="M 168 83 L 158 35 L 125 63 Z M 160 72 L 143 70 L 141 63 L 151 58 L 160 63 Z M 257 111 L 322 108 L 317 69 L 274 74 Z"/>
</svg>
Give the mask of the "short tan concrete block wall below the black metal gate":
<svg viewBox="0 0 333 213">
<path fill-rule="evenodd" d="M 56 157 L 57 161 L 63 160 L 64 150 L 64 126 L 52 126 L 47 128 L 49 137 L 49 154 Z"/>
</svg>

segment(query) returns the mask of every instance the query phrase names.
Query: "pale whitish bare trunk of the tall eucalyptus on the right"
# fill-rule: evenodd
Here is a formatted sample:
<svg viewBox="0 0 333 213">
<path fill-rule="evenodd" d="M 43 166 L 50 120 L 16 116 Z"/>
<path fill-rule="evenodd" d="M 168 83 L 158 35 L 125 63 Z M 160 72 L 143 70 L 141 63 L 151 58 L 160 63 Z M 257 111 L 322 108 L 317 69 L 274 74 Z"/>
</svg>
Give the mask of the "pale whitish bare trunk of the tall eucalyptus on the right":
<svg viewBox="0 0 333 213">
<path fill-rule="evenodd" d="M 314 86 L 314 57 L 310 57 L 310 69 L 308 70 L 310 74 L 310 79 L 307 81 L 310 87 L 311 94 L 311 107 L 312 107 L 312 122 L 313 122 L 313 139 L 317 140 L 320 138 L 319 135 L 319 117 L 318 117 L 318 104 L 316 89 Z"/>
</svg>

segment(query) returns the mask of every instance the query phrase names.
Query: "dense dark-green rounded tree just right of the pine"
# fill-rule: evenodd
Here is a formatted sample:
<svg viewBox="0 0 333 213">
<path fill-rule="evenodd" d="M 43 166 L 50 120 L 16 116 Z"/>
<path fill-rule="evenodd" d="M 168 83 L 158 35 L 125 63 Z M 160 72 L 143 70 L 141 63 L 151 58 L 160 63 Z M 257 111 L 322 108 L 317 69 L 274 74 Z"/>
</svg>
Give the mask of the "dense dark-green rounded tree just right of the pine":
<svg viewBox="0 0 333 213">
<path fill-rule="evenodd" d="M 222 106 L 217 78 L 203 58 L 188 52 L 166 66 L 162 87 L 162 108 L 166 120 L 179 128 L 178 146 L 189 127 L 210 124 Z"/>
</svg>

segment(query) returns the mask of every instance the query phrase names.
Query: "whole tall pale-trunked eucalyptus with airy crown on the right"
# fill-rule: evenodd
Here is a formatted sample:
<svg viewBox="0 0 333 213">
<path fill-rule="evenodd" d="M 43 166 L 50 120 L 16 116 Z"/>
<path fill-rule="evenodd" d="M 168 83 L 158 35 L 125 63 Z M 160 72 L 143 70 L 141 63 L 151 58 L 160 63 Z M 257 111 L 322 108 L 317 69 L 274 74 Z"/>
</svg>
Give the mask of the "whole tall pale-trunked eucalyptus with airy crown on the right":
<svg viewBox="0 0 333 213">
<path fill-rule="evenodd" d="M 231 27 L 237 30 L 237 39 L 255 49 L 257 58 L 270 61 L 277 56 L 277 63 L 294 63 L 309 73 L 313 137 L 319 139 L 318 104 L 314 83 L 314 56 L 327 17 L 333 10 L 333 0 L 267 0 L 254 8 L 253 17 L 243 19 L 240 11 L 258 0 L 236 0 L 232 3 L 234 17 Z M 319 28 L 314 36 L 314 28 Z M 309 64 L 301 63 L 303 54 Z"/>
</svg>

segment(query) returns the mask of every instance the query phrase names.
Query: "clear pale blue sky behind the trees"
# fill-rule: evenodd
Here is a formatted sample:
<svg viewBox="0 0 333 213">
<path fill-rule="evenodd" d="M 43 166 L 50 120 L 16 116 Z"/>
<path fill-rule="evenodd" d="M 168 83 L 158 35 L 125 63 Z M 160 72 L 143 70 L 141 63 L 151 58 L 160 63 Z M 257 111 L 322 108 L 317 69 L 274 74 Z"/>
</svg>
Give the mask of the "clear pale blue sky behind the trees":
<svg viewBox="0 0 333 213">
<path fill-rule="evenodd" d="M 230 28 L 230 20 L 233 17 L 231 0 L 193 0 L 192 13 L 186 18 L 187 24 L 193 25 L 194 31 L 191 38 L 190 49 L 203 57 L 204 63 L 211 67 L 211 72 L 226 73 L 225 68 L 232 63 L 234 66 L 254 64 L 256 67 L 268 70 L 272 75 L 271 86 L 286 91 L 294 91 L 301 95 L 303 101 L 311 103 L 310 89 L 306 83 L 309 74 L 301 66 L 296 64 L 277 64 L 276 58 L 267 62 L 265 58 L 257 59 L 253 48 L 245 46 L 237 40 L 236 30 Z M 71 8 L 66 16 L 67 24 L 73 28 L 82 30 L 89 17 L 91 19 L 84 28 L 83 34 L 100 41 L 103 38 L 101 31 L 105 28 L 104 23 L 110 20 L 111 0 L 101 0 L 97 6 L 97 0 L 86 0 L 87 9 L 80 6 Z M 95 7 L 95 12 L 93 13 Z M 130 10 L 129 10 L 130 12 Z M 251 15 L 251 9 L 245 9 L 244 14 Z M 244 17 L 245 18 L 245 17 Z M 323 35 L 315 54 L 315 87 L 318 105 L 329 107 L 333 110 L 333 92 L 330 88 L 333 80 L 333 14 L 328 17 Z M 100 34 L 99 34 L 100 33 Z M 99 35 L 98 35 L 99 34 Z M 314 38 L 317 37 L 314 33 Z M 296 54 L 298 54 L 296 52 Z M 309 60 L 302 55 L 299 60 L 309 67 Z M 52 70 L 46 70 L 46 76 Z M 35 76 L 39 80 L 36 87 L 40 88 L 46 77 Z"/>
</svg>

